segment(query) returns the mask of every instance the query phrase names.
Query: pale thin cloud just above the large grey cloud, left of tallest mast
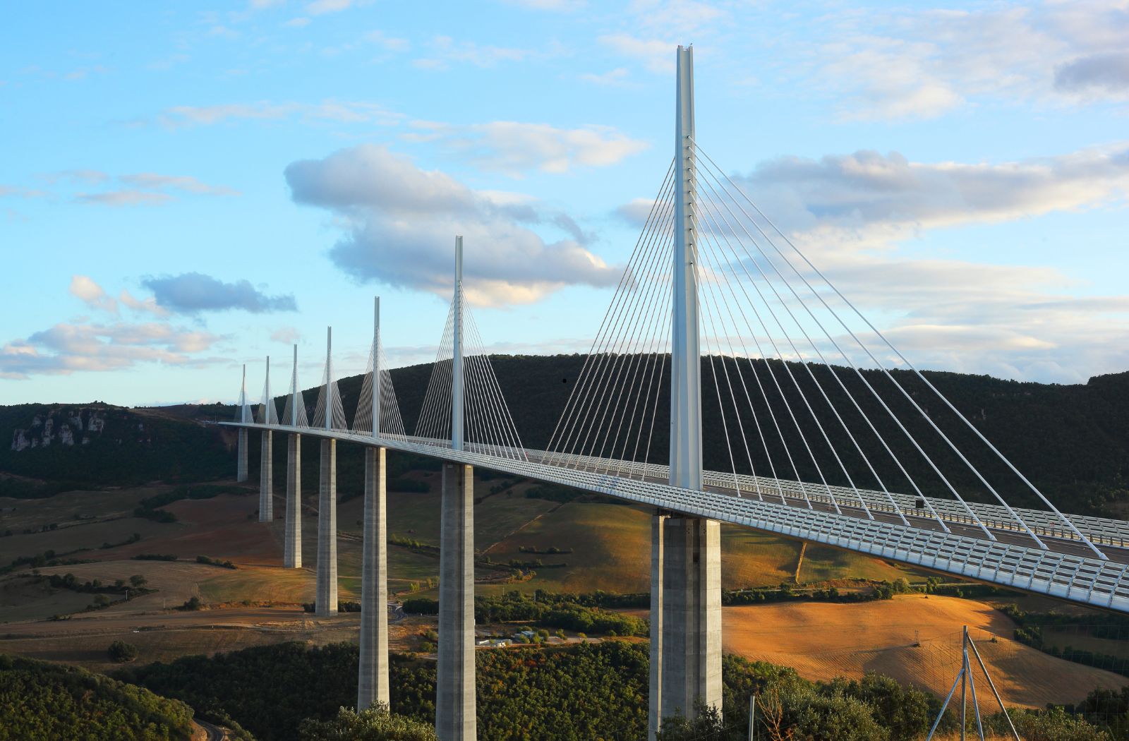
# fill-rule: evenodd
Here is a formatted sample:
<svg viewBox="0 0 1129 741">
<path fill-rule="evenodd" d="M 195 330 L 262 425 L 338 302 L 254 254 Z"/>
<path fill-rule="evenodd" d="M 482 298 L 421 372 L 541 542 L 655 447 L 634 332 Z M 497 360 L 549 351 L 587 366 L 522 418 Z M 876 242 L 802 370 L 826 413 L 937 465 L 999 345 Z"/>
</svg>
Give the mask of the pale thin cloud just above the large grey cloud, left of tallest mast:
<svg viewBox="0 0 1129 741">
<path fill-rule="evenodd" d="M 564 173 L 576 166 L 614 165 L 647 148 L 612 127 L 562 129 L 548 123 L 493 121 L 456 125 L 415 121 L 409 141 L 438 141 L 479 167 L 520 174 Z"/>
</svg>

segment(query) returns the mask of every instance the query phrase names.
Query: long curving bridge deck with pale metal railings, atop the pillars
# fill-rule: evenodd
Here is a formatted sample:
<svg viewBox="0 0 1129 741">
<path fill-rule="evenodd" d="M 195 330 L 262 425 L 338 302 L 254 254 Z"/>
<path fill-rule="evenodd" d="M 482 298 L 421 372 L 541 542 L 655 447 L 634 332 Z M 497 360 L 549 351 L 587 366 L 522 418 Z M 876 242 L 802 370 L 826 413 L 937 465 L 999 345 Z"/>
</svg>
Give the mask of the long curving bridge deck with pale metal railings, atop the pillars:
<svg viewBox="0 0 1129 741">
<path fill-rule="evenodd" d="M 951 532 L 944 532 L 931 514 L 922 515 L 913 497 L 879 491 L 777 481 L 760 477 L 734 477 L 709 472 L 703 491 L 666 483 L 665 467 L 629 464 L 603 459 L 578 460 L 543 451 L 514 451 L 469 444 L 453 451 L 449 442 L 411 436 L 373 437 L 364 433 L 282 425 L 222 422 L 255 429 L 314 435 L 361 445 L 469 463 L 541 481 L 561 483 L 662 509 L 710 517 L 756 530 L 826 543 L 881 558 L 990 582 L 1073 602 L 1129 612 L 1129 530 L 1126 523 L 1071 516 L 1071 522 L 1099 543 L 1110 560 L 1094 557 L 1069 530 L 1053 522 L 1051 513 L 1021 511 L 1039 532 L 1047 550 L 1035 546 L 1014 521 L 1000 516 L 1003 507 L 972 505 L 996 541 L 983 537 L 955 502 L 930 498 Z M 480 450 L 481 447 L 481 450 Z M 631 467 L 628 470 L 628 467 Z M 754 480 L 756 479 L 756 480 Z M 758 496 L 758 492 L 759 496 Z M 834 492 L 841 512 L 831 502 Z M 782 494 L 782 500 L 781 495 Z M 806 499 L 805 495 L 806 494 Z M 866 508 L 859 503 L 859 495 Z M 772 497 L 776 500 L 772 500 Z M 893 496 L 911 526 L 894 513 Z M 850 499 L 854 498 L 854 504 Z M 869 500 L 868 500 L 869 499 Z M 938 506 L 938 504 L 943 506 Z M 873 518 L 867 515 L 869 509 Z M 943 512 L 944 509 L 944 512 Z M 996 512 L 996 511 L 1000 512 Z M 1032 513 L 1029 520 L 1029 514 Z M 1006 514 L 1006 513 L 1005 513 Z M 1039 515 L 1039 517 L 1034 517 Z"/>
</svg>

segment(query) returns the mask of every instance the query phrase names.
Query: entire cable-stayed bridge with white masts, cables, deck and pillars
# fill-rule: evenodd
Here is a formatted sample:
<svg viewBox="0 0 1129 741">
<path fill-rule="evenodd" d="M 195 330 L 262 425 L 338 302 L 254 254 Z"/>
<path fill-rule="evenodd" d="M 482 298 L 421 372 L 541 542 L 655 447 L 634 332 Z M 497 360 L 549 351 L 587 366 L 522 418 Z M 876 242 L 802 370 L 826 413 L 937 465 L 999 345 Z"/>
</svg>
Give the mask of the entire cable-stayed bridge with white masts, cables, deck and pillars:
<svg viewBox="0 0 1129 741">
<path fill-rule="evenodd" d="M 244 374 L 229 424 L 239 428 L 242 480 L 248 430 L 261 430 L 263 521 L 273 518 L 272 435 L 288 435 L 288 567 L 301 565 L 299 438 L 322 441 L 324 617 L 336 612 L 336 444 L 365 446 L 361 707 L 388 698 L 387 450 L 445 462 L 436 704 L 444 741 L 475 736 L 474 467 L 654 508 L 651 735 L 697 699 L 720 706 L 721 522 L 1129 612 L 1129 523 L 1060 512 L 777 228 L 698 145 L 691 50 L 680 47 L 677 61 L 675 156 L 543 450 L 523 444 L 466 306 L 461 237 L 411 434 L 380 343 L 379 299 L 356 410 L 338 390 L 332 334 L 313 409 L 297 348 L 281 416 L 269 360 L 257 408 Z"/>
</svg>

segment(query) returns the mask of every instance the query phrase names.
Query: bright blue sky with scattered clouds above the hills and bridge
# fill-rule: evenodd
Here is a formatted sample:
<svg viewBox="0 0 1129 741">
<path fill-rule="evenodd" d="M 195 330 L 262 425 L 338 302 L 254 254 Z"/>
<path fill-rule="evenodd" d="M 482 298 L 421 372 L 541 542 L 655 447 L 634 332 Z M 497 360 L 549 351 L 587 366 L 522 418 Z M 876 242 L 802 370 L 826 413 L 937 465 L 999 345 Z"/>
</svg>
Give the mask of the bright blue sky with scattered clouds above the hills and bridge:
<svg viewBox="0 0 1129 741">
<path fill-rule="evenodd" d="M 583 351 L 698 141 L 925 367 L 1129 369 L 1129 2 L 24 3 L 0 29 L 0 403 L 231 400 L 325 326 Z M 628 215 L 628 216 L 625 216 Z"/>
</svg>

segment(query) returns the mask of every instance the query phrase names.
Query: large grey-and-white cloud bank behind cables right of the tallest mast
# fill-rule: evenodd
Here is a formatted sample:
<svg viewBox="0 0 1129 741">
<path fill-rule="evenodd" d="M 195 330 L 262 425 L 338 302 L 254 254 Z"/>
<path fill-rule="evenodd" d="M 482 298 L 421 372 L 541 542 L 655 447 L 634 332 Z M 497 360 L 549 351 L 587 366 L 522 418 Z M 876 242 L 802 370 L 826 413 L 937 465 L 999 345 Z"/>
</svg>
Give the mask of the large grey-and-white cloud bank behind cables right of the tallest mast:
<svg viewBox="0 0 1129 741">
<path fill-rule="evenodd" d="M 711 190 L 704 162 L 702 169 L 699 229 L 716 235 L 716 241 L 723 234 L 743 234 L 736 223 L 736 228 L 718 224 L 718 213 L 727 213 L 720 204 L 725 201 Z M 1066 272 L 994 264 L 987 250 L 982 259 L 964 260 L 922 259 L 911 252 L 925 232 L 1121 207 L 1129 197 L 1129 143 L 995 164 L 919 163 L 874 151 L 782 157 L 733 177 L 914 363 L 1056 382 L 1129 367 L 1129 298 L 1076 295 L 1085 286 Z M 620 207 L 616 216 L 641 225 L 651 203 L 637 199 Z M 728 204 L 736 215 L 749 208 Z M 759 274 L 761 268 L 778 281 L 769 259 L 742 238 L 750 250 L 743 260 L 750 272 Z M 784 242 L 776 241 L 795 260 Z M 780 256 L 765 251 L 793 278 Z M 712 261 L 715 254 L 707 252 L 706 262 Z M 796 264 L 817 281 L 803 263 Z M 821 306 L 798 281 L 797 287 Z M 780 289 L 790 302 L 790 294 Z M 832 304 L 849 320 L 846 306 Z M 839 331 L 833 321 L 825 325 Z M 869 328 L 858 322 L 852 326 L 881 347 Z M 809 329 L 819 334 L 817 328 Z M 854 343 L 848 335 L 837 339 L 846 348 Z M 834 356 L 830 346 L 825 350 Z M 860 354 L 854 359 L 870 365 Z"/>
</svg>

